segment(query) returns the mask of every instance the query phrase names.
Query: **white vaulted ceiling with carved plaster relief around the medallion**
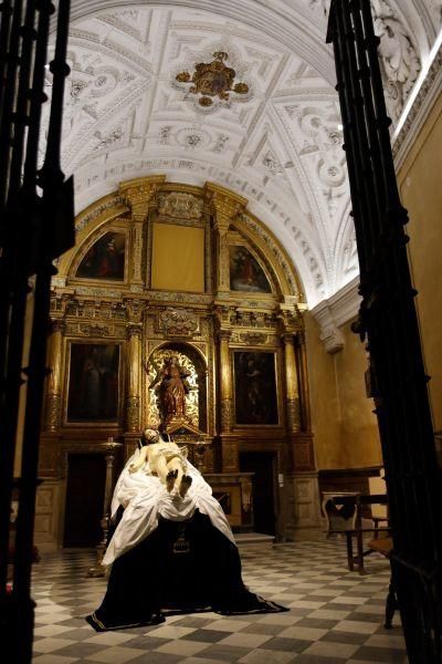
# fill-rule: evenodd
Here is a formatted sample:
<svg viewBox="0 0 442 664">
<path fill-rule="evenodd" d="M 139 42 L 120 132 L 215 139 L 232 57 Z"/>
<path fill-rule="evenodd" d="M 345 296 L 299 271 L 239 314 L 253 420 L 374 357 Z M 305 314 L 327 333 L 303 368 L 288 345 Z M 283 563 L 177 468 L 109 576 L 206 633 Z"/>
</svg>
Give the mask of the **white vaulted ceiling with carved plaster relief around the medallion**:
<svg viewBox="0 0 442 664">
<path fill-rule="evenodd" d="M 436 41 L 442 0 L 371 4 L 398 124 Z M 293 257 L 311 307 L 355 278 L 328 6 L 73 0 L 62 158 L 75 174 L 77 211 L 143 175 L 212 180 L 250 200 Z M 233 91 L 200 103 L 204 95 L 177 75 L 191 77 L 217 52 L 228 54 Z M 238 83 L 245 86 L 234 92 Z"/>
</svg>

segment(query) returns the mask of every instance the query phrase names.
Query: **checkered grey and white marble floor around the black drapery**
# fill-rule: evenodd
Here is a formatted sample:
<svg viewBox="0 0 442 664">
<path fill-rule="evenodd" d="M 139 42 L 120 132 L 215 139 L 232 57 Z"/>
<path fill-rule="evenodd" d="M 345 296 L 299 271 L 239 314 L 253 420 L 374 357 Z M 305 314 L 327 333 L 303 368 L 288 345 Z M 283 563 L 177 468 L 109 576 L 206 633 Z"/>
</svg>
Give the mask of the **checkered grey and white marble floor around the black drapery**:
<svg viewBox="0 0 442 664">
<path fill-rule="evenodd" d="M 256 546 L 241 551 L 251 590 L 287 613 L 170 615 L 166 623 L 97 634 L 84 622 L 106 581 L 90 579 L 90 550 L 45 554 L 34 566 L 34 664 L 382 664 L 407 662 L 399 616 L 385 630 L 389 564 L 367 559 L 348 572 L 345 542 Z M 129 592 L 129 589 L 128 589 Z"/>
</svg>

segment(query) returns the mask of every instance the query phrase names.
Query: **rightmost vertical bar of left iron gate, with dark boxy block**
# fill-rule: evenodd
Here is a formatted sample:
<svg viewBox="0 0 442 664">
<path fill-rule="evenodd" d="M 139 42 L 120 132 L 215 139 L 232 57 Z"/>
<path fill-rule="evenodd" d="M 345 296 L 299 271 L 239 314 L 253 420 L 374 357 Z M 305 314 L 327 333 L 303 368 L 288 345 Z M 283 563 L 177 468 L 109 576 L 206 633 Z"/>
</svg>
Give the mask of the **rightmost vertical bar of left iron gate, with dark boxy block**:
<svg viewBox="0 0 442 664">
<path fill-rule="evenodd" d="M 39 28 L 42 33 L 49 27 L 49 13 L 52 4 L 42 2 L 40 9 Z M 43 188 L 42 201 L 34 200 L 38 207 L 43 207 L 39 218 L 38 246 L 40 256 L 36 262 L 34 315 L 32 324 L 30 362 L 28 373 L 28 395 L 24 421 L 24 435 L 22 446 L 22 477 L 20 489 L 19 513 L 17 520 L 17 547 L 13 580 L 13 609 L 15 619 L 20 615 L 20 630 L 22 639 L 19 640 L 15 657 L 18 663 L 28 663 L 32 656 L 32 633 L 34 622 L 34 603 L 30 596 L 31 559 L 33 542 L 33 525 L 35 516 L 35 492 L 38 484 L 39 443 L 41 413 L 43 406 L 43 386 L 46 373 L 46 339 L 49 331 L 50 287 L 51 276 L 55 272 L 52 267 L 56 242 L 53 234 L 62 239 L 73 235 L 73 187 L 72 178 L 64 183 L 64 175 L 60 166 L 60 142 L 62 131 L 64 82 L 70 69 L 65 62 L 67 45 L 67 29 L 70 19 L 70 0 L 61 0 L 57 14 L 57 33 L 54 60 L 51 71 L 54 74 L 50 126 L 46 145 L 45 160 L 39 174 L 39 184 Z M 42 51 L 38 50 L 40 70 L 36 71 L 39 84 L 43 84 L 44 59 Z M 34 100 L 36 104 L 40 98 Z M 40 114 L 38 115 L 40 122 Z M 30 154 L 27 159 L 25 175 L 30 186 L 33 186 L 33 175 L 36 165 L 36 134 L 29 136 Z M 59 226 L 61 228 L 59 228 Z M 64 241 L 65 243 L 65 241 Z"/>
</svg>

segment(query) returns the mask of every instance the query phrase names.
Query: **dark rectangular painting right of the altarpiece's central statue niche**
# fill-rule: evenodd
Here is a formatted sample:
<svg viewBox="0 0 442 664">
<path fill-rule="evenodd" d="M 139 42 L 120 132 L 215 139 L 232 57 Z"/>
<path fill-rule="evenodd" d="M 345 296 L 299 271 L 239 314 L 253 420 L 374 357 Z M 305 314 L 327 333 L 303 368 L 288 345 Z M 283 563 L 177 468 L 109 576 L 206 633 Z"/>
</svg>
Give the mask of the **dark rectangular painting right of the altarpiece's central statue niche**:
<svg viewBox="0 0 442 664">
<path fill-rule="evenodd" d="M 236 424 L 277 424 L 275 354 L 233 353 Z"/>
</svg>

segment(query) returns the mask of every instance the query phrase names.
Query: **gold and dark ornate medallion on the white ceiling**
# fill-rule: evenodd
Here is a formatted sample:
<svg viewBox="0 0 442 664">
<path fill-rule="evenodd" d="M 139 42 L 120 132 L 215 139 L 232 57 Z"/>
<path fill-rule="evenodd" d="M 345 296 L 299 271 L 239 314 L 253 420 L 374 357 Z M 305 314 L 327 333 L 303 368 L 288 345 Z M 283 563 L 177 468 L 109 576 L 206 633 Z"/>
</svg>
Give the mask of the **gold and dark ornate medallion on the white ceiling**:
<svg viewBox="0 0 442 664">
<path fill-rule="evenodd" d="M 249 92 L 246 83 L 235 83 L 233 85 L 236 72 L 224 64 L 224 60 L 229 58 L 228 53 L 217 51 L 213 53 L 213 58 L 214 60 L 210 63 L 197 63 L 192 75 L 190 72 L 180 72 L 176 76 L 179 83 L 193 83 L 189 92 L 202 95 L 198 100 L 198 103 L 206 107 L 213 104 L 211 97 L 218 96 L 221 101 L 227 102 L 230 98 L 230 92 L 235 92 L 236 94 L 246 94 Z"/>
</svg>

